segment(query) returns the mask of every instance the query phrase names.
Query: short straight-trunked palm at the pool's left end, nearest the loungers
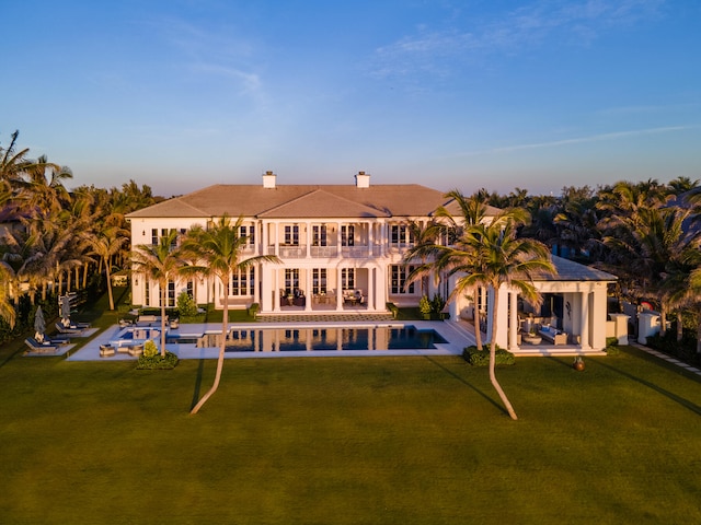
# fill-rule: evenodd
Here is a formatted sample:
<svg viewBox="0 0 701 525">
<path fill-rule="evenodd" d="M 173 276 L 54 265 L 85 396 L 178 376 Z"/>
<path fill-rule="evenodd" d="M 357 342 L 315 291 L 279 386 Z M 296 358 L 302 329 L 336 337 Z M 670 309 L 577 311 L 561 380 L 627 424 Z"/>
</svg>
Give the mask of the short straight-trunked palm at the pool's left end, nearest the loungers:
<svg viewBox="0 0 701 525">
<path fill-rule="evenodd" d="M 161 358 L 165 357 L 165 306 L 168 283 L 187 266 L 177 244 L 177 231 L 171 230 L 156 245 L 140 244 L 131 253 L 131 271 L 158 282 L 161 291 Z"/>
</svg>

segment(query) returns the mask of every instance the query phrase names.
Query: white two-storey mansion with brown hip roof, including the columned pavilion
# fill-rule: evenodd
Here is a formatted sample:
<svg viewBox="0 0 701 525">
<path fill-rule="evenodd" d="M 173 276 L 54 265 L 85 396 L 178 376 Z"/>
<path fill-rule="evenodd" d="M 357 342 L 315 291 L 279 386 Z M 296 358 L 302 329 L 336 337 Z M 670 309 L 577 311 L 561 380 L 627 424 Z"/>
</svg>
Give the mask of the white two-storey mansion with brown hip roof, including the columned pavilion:
<svg viewBox="0 0 701 525">
<path fill-rule="evenodd" d="M 215 185 L 159 202 L 127 215 L 133 247 L 154 244 L 171 230 L 206 228 L 225 213 L 243 218 L 242 234 L 249 246 L 242 254 L 276 255 L 280 262 L 262 262 L 232 276 L 228 287 L 195 278 L 171 282 L 168 306 L 187 290 L 198 304 L 245 308 L 258 303 L 260 314 L 388 312 L 388 303 L 416 305 L 422 294 L 448 296 L 451 282 L 433 279 L 405 287 L 411 267 L 403 256 L 413 245 L 410 224 L 432 219 L 450 201 L 443 191 L 415 184 L 374 185 L 359 172 L 354 185 L 278 185 L 267 172 L 263 184 Z M 458 211 L 458 210 L 451 210 Z M 493 213 L 497 210 L 490 209 Z M 545 311 L 530 317 L 548 320 L 567 332 L 583 349 L 606 346 L 607 284 L 616 278 L 553 257 L 556 277 L 536 284 L 547 294 Z M 159 285 L 143 276 L 131 279 L 133 303 L 158 306 Z M 516 292 L 499 290 L 497 343 L 514 348 L 529 317 Z M 484 319 L 490 293 L 478 298 Z M 449 304 L 450 318 L 471 316 L 467 298 Z M 489 327 L 487 332 L 489 332 Z"/>
</svg>

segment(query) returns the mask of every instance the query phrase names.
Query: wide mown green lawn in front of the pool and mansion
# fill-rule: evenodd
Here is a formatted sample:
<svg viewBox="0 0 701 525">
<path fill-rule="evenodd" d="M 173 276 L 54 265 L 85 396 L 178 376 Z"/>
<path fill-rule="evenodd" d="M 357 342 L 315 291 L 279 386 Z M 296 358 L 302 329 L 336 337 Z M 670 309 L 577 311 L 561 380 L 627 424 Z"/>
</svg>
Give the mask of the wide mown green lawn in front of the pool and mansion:
<svg viewBox="0 0 701 525">
<path fill-rule="evenodd" d="M 7 352 L 11 349 L 4 349 Z M 0 523 L 700 523 L 701 383 L 632 349 L 229 360 L 7 355 Z"/>
</svg>

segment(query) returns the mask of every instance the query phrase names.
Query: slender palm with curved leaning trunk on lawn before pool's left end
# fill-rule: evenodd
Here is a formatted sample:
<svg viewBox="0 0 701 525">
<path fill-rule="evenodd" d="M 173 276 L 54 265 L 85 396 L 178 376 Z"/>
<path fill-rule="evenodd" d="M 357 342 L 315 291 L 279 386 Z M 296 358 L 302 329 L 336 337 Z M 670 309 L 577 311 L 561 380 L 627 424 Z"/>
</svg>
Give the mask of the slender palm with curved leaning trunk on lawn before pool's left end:
<svg viewBox="0 0 701 525">
<path fill-rule="evenodd" d="M 248 259 L 241 259 L 241 253 L 249 242 L 245 235 L 241 235 L 243 218 L 239 218 L 235 223 L 231 223 L 230 218 L 225 214 L 221 219 L 211 224 L 208 230 L 202 226 L 193 228 L 183 243 L 183 248 L 191 253 L 202 265 L 202 272 L 214 276 L 223 290 L 227 290 L 231 275 L 239 270 L 245 270 L 260 262 L 278 262 L 274 255 L 258 255 Z M 226 299 L 226 298 L 225 298 Z M 221 371 L 223 369 L 223 355 L 226 349 L 226 335 L 229 323 L 229 304 L 223 301 L 223 314 L 221 322 L 221 341 L 219 343 L 219 357 L 217 360 L 217 373 L 211 388 L 195 405 L 191 413 L 197 413 L 202 406 L 217 392 Z"/>
</svg>

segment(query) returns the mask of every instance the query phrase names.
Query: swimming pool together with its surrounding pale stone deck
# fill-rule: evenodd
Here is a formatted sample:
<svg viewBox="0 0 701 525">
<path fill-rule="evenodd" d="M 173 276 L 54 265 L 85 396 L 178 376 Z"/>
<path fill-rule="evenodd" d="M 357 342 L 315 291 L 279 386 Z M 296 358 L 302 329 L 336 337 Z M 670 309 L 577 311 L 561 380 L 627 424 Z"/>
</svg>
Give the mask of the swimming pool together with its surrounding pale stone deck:
<svg viewBox="0 0 701 525">
<path fill-rule="evenodd" d="M 221 325 L 180 325 L 166 328 L 165 348 L 180 359 L 216 359 Z M 101 346 L 160 346 L 160 329 L 119 327 L 102 331 L 68 361 L 136 360 L 128 352 L 100 357 Z M 474 343 L 468 331 L 450 323 L 252 323 L 230 324 L 226 359 L 275 357 L 459 355 Z"/>
</svg>

